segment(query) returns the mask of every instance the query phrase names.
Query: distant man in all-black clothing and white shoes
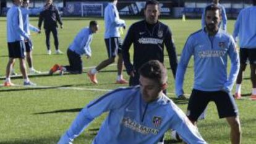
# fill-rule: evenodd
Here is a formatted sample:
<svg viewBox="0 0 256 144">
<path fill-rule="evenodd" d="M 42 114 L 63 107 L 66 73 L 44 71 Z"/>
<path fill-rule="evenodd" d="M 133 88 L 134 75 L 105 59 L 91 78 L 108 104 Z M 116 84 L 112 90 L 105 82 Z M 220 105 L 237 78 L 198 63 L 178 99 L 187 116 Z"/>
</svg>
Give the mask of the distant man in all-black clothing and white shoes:
<svg viewBox="0 0 256 144">
<path fill-rule="evenodd" d="M 46 0 L 46 4 L 49 6 L 48 9 L 45 9 L 45 11 L 40 13 L 39 21 L 38 21 L 38 28 L 41 30 L 41 25 L 43 23 L 43 28 L 45 28 L 45 36 L 46 36 L 46 46 L 47 46 L 47 53 L 51 54 L 51 48 L 50 48 L 50 33 L 53 33 L 54 38 L 54 45 L 56 49 L 56 54 L 62 54 L 62 52 L 59 50 L 59 40 L 58 40 L 58 24 L 61 25 L 61 28 L 63 27 L 63 23 L 61 21 L 61 16 L 59 15 L 58 8 L 53 5 L 53 0 Z"/>
</svg>

